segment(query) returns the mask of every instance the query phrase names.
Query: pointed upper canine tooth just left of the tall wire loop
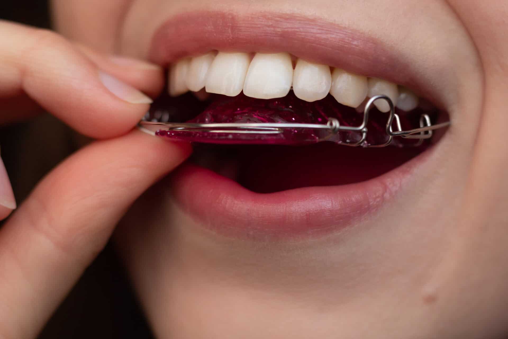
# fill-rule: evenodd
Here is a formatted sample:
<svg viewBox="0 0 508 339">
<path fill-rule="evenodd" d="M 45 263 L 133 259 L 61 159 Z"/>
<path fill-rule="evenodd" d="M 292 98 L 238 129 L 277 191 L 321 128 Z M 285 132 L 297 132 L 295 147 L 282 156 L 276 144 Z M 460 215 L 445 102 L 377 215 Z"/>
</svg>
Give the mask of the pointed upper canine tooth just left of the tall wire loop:
<svg viewBox="0 0 508 339">
<path fill-rule="evenodd" d="M 330 94 L 342 105 L 358 107 L 367 97 L 367 84 L 367 77 L 336 68 L 332 73 Z"/>
</svg>

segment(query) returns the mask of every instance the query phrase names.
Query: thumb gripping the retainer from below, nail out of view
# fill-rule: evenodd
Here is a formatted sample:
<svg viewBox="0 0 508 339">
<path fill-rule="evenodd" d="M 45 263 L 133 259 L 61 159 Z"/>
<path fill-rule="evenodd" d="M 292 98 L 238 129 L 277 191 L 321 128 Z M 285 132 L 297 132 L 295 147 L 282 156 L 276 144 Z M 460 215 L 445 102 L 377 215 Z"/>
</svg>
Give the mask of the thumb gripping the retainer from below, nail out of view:
<svg viewBox="0 0 508 339">
<path fill-rule="evenodd" d="M 35 337 L 126 209 L 190 153 L 133 131 L 54 169 L 0 230 L 0 337 Z"/>
</svg>

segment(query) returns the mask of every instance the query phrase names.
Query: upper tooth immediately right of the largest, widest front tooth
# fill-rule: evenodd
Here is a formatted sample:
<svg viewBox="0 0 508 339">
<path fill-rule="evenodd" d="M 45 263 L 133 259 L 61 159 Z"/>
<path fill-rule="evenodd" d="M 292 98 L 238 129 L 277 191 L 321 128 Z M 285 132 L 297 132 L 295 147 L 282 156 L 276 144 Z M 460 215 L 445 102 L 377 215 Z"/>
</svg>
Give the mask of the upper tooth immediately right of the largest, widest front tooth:
<svg viewBox="0 0 508 339">
<path fill-rule="evenodd" d="M 293 74 L 293 91 L 297 98 L 313 102 L 325 98 L 332 85 L 330 67 L 298 59 Z"/>
</svg>

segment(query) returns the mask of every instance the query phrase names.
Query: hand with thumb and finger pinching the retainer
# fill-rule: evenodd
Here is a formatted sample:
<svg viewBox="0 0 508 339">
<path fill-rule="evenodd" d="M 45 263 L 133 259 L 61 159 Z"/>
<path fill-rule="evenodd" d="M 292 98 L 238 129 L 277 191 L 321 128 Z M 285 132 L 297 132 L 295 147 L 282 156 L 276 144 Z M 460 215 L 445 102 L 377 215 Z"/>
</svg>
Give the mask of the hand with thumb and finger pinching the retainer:
<svg viewBox="0 0 508 339">
<path fill-rule="evenodd" d="M 132 130 L 150 103 L 140 90 L 160 92 L 162 69 L 5 21 L 0 36 L 0 124 L 43 108 L 99 139 L 41 180 L 0 229 L 0 337 L 32 338 L 123 213 L 190 148 Z M 0 165 L 5 219 L 16 205 Z"/>
</svg>

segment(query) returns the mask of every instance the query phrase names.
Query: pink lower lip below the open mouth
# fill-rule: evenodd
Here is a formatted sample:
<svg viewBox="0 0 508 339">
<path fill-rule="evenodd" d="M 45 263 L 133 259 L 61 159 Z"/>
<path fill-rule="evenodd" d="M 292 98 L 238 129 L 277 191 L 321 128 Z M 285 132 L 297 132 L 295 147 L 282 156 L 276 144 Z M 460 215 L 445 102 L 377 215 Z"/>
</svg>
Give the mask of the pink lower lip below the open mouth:
<svg viewBox="0 0 508 339">
<path fill-rule="evenodd" d="M 175 173 L 173 194 L 196 222 L 237 238 L 323 236 L 375 213 L 415 177 L 434 147 L 379 177 L 353 184 L 260 194 L 192 164 Z"/>
</svg>

